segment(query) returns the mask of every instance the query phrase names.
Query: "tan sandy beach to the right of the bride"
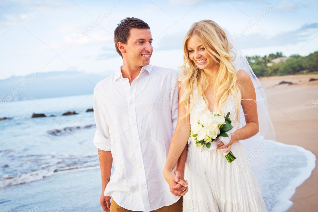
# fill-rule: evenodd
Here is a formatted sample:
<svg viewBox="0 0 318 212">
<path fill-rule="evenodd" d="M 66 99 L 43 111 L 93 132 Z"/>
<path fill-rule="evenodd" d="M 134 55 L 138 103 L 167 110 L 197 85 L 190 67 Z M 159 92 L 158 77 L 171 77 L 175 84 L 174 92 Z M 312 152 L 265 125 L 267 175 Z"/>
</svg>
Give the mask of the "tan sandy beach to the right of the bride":
<svg viewBox="0 0 318 212">
<path fill-rule="evenodd" d="M 298 145 L 318 156 L 318 80 L 309 82 L 312 75 L 273 76 L 259 79 L 269 101 L 269 113 L 276 140 Z M 295 83 L 282 84 L 281 81 Z M 295 189 L 288 211 L 318 211 L 318 169 Z"/>
</svg>

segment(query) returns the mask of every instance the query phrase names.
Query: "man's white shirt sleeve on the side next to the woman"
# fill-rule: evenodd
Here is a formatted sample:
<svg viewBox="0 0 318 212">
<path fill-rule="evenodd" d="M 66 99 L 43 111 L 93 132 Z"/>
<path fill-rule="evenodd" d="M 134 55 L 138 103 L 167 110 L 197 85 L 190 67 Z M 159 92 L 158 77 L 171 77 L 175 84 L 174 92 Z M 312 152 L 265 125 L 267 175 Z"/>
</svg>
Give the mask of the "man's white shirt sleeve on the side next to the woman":
<svg viewBox="0 0 318 212">
<path fill-rule="evenodd" d="M 171 120 L 172 120 L 172 132 L 175 131 L 177 121 L 178 121 L 178 106 L 179 106 L 179 87 L 178 87 L 178 74 L 176 73 L 174 77 L 172 78 L 172 90 L 171 90 L 171 99 L 170 99 L 170 105 L 171 105 Z"/>
</svg>

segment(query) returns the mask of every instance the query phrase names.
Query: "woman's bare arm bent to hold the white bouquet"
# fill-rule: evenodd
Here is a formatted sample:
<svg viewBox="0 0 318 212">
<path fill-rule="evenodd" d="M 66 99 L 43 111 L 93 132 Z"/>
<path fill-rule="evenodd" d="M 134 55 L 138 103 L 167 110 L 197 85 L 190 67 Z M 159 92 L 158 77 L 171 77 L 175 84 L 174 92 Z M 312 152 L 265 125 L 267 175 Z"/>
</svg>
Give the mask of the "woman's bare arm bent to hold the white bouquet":
<svg viewBox="0 0 318 212">
<path fill-rule="evenodd" d="M 239 84 L 242 93 L 241 105 L 243 108 L 246 125 L 234 132 L 234 135 L 231 136 L 231 141 L 228 146 L 225 146 L 223 142 L 218 145 L 218 149 L 227 147 L 227 149 L 222 152 L 228 152 L 231 149 L 233 142 L 251 138 L 259 131 L 256 94 L 250 75 L 244 70 L 239 70 L 237 83 Z"/>
</svg>

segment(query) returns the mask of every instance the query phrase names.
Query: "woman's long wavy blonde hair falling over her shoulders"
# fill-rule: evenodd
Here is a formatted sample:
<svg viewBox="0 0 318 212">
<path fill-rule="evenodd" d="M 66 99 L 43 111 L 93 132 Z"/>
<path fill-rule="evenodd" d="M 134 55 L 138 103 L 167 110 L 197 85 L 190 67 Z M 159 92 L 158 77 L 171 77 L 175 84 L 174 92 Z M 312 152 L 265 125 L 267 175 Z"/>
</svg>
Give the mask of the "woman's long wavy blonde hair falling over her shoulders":
<svg viewBox="0 0 318 212">
<path fill-rule="evenodd" d="M 179 99 L 179 104 L 185 106 L 186 114 L 181 118 L 185 118 L 190 114 L 190 111 L 201 98 L 201 95 L 206 102 L 205 109 L 209 106 L 208 100 L 204 95 L 204 92 L 209 86 L 209 78 L 206 73 L 197 68 L 197 65 L 189 58 L 189 51 L 187 49 L 187 40 L 194 35 L 200 38 L 205 51 L 208 52 L 219 67 L 215 77 L 212 79 L 212 85 L 214 85 L 215 91 L 215 107 L 218 108 L 220 113 L 224 113 L 223 106 L 229 95 L 233 94 L 237 105 L 236 119 L 239 121 L 241 91 L 237 84 L 238 76 L 236 68 L 231 62 L 230 50 L 232 47 L 229 46 L 225 31 L 211 20 L 202 20 L 192 24 L 183 41 L 184 64 L 179 67 L 182 68 L 182 71 L 178 79 L 178 85 L 179 88 L 182 87 L 185 91 L 184 95 Z M 190 94 L 193 96 L 192 91 L 195 87 L 197 87 L 198 95 L 193 99 L 190 105 Z"/>
</svg>

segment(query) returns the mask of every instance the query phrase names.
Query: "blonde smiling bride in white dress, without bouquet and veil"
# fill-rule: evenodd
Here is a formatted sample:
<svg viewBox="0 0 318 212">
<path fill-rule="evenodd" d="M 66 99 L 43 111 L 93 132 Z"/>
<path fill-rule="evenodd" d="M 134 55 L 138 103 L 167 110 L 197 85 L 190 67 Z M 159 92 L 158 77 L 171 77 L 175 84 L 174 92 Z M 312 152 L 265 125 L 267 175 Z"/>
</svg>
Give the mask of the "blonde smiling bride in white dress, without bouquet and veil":
<svg viewBox="0 0 318 212">
<path fill-rule="evenodd" d="M 184 39 L 184 65 L 179 81 L 179 112 L 164 177 L 169 185 L 175 182 L 178 157 L 187 144 L 190 130 L 203 113 L 230 112 L 233 131 L 228 144 L 215 150 L 198 149 L 189 143 L 184 177 L 187 188 L 183 211 L 266 211 L 259 184 L 240 140 L 259 132 L 256 93 L 250 75 L 237 70 L 231 61 L 231 44 L 225 31 L 211 20 L 194 23 Z M 240 106 L 246 124 L 239 128 Z M 236 159 L 230 164 L 223 152 L 232 151 Z"/>
</svg>

